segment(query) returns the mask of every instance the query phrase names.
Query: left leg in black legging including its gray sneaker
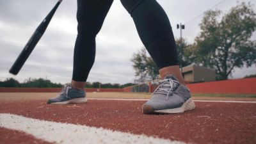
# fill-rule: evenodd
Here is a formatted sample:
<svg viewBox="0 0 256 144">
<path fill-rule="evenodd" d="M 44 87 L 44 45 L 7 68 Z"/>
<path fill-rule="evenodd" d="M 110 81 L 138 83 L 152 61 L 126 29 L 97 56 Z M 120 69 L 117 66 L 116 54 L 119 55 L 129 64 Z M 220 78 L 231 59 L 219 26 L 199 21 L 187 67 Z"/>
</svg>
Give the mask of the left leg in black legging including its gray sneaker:
<svg viewBox="0 0 256 144">
<path fill-rule="evenodd" d="M 47 104 L 86 102 L 84 84 L 95 59 L 95 37 L 102 27 L 113 0 L 77 0 L 77 39 L 74 49 L 74 68 L 71 84 Z"/>
</svg>

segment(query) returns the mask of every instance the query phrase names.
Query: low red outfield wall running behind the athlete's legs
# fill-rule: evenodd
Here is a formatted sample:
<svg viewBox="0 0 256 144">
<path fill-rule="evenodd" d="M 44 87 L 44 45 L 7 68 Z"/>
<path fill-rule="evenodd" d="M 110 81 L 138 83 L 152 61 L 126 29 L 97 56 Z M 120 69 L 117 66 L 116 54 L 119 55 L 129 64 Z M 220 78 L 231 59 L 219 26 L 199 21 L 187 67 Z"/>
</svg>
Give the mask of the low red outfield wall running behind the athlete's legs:
<svg viewBox="0 0 256 144">
<path fill-rule="evenodd" d="M 187 84 L 192 93 L 256 94 L 256 78 Z M 86 88 L 86 92 L 132 92 L 127 88 Z M 155 85 L 148 88 L 154 92 Z M 61 88 L 0 88 L 0 92 L 60 92 Z"/>
</svg>

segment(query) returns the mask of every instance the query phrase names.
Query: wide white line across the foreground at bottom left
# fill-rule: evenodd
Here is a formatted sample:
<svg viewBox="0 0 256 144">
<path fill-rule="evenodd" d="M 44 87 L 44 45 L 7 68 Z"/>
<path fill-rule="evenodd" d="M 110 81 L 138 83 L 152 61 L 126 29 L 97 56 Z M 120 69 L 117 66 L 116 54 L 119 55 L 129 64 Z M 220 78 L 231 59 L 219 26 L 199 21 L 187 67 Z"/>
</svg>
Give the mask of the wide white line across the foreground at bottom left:
<svg viewBox="0 0 256 144">
<path fill-rule="evenodd" d="M 131 125 L 132 126 L 132 125 Z M 128 132 L 111 131 L 109 129 L 88 127 L 86 125 L 75 125 L 67 123 L 50 122 L 13 115 L 10 113 L 0 113 L 0 127 L 23 131 L 35 136 L 35 138 L 49 141 L 51 143 L 170 143 L 186 144 L 181 141 L 171 141 L 152 136 L 131 134 Z M 26 140 L 24 140 L 26 141 Z"/>
</svg>

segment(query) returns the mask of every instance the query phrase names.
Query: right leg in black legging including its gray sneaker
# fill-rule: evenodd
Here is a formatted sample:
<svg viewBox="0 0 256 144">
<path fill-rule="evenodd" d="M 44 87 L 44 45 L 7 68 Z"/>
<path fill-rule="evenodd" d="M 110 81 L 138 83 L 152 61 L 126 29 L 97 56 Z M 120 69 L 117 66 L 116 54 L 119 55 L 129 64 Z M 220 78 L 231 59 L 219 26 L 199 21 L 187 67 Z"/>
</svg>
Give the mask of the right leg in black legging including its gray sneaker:
<svg viewBox="0 0 256 144">
<path fill-rule="evenodd" d="M 121 1 L 163 78 L 151 99 L 143 104 L 143 113 L 184 113 L 194 109 L 191 93 L 180 74 L 172 28 L 163 8 L 156 0 Z"/>
</svg>

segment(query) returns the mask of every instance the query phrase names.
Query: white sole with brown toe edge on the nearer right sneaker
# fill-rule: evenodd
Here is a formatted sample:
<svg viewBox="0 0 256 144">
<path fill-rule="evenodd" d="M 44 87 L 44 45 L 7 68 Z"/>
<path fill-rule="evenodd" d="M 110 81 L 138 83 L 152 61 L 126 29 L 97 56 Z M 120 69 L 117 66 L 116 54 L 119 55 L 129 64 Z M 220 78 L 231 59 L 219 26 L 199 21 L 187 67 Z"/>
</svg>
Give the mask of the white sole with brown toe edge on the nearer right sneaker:
<svg viewBox="0 0 256 144">
<path fill-rule="evenodd" d="M 180 108 L 173 108 L 173 109 L 162 109 L 155 111 L 149 105 L 143 105 L 143 113 L 145 114 L 152 114 L 152 113 L 184 113 L 185 111 L 189 111 L 195 109 L 195 103 L 193 102 L 192 98 L 188 99 Z"/>
</svg>

